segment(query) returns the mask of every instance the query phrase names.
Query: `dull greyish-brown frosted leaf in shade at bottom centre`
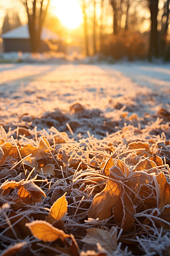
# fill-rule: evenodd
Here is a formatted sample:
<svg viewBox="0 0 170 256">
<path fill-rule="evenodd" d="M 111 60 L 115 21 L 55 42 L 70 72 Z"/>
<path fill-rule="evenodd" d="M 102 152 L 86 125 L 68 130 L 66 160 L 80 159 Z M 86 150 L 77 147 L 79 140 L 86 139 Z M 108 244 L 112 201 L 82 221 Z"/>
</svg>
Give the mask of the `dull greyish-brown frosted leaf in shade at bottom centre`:
<svg viewBox="0 0 170 256">
<path fill-rule="evenodd" d="M 114 251 L 117 249 L 116 237 L 112 237 L 112 234 L 108 232 L 108 230 L 99 228 L 87 229 L 87 235 L 82 241 L 94 245 L 100 243 L 101 247 L 107 251 L 107 255 L 113 255 Z"/>
</svg>

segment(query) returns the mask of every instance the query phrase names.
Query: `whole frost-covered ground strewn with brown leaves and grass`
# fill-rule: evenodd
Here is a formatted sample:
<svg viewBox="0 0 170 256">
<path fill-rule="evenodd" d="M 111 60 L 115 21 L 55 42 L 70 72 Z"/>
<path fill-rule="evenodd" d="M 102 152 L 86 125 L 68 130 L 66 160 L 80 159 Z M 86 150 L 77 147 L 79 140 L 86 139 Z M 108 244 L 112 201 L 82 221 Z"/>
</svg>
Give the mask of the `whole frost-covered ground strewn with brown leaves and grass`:
<svg viewBox="0 0 170 256">
<path fill-rule="evenodd" d="M 170 64 L 54 62 L 0 65 L 0 253 L 169 255 Z"/>
</svg>

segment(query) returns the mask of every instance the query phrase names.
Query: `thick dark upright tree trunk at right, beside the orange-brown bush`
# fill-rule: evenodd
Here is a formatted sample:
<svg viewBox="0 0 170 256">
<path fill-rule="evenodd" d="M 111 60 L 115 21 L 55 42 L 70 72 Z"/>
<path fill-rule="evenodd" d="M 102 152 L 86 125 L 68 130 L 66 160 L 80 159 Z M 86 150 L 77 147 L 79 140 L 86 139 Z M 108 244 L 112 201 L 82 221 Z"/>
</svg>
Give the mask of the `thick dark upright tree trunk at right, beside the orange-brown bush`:
<svg viewBox="0 0 170 256">
<path fill-rule="evenodd" d="M 150 48 L 149 48 L 149 59 L 152 56 L 158 56 L 158 2 L 159 0 L 150 0 L 149 7 L 151 13 L 151 32 L 150 32 Z"/>
</svg>

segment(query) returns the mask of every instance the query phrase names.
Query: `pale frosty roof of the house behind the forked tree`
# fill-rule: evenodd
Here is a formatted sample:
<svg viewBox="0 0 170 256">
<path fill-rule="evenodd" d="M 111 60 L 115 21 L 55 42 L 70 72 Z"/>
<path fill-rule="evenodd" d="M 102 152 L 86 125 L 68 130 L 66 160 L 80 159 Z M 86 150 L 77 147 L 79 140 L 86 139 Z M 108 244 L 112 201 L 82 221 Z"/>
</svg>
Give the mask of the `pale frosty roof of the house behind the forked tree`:
<svg viewBox="0 0 170 256">
<path fill-rule="evenodd" d="M 2 34 L 3 39 L 29 39 L 29 30 L 28 24 L 14 28 L 14 30 L 10 30 L 4 34 Z M 47 28 L 43 27 L 41 32 L 41 40 L 45 39 L 55 39 L 58 40 L 59 36 L 54 32 L 48 30 Z"/>
</svg>

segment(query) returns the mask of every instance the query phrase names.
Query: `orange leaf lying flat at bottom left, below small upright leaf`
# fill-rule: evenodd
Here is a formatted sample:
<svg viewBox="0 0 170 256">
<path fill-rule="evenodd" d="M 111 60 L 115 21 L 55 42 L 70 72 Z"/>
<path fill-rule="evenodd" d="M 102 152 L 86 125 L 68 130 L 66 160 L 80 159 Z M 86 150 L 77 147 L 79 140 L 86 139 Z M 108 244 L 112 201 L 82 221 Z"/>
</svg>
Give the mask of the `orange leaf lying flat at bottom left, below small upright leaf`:
<svg viewBox="0 0 170 256">
<path fill-rule="evenodd" d="M 52 242 L 58 238 L 65 240 L 65 238 L 70 237 L 63 230 L 54 228 L 46 221 L 32 221 L 31 223 L 25 224 L 25 226 L 31 230 L 33 236 L 44 242 Z"/>
</svg>

